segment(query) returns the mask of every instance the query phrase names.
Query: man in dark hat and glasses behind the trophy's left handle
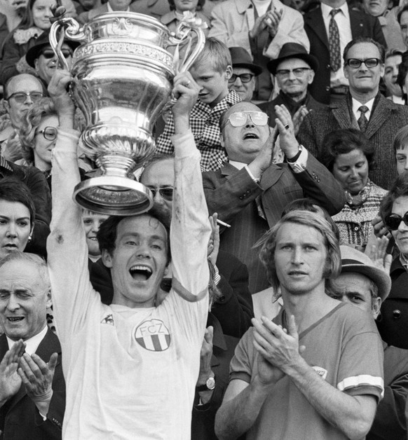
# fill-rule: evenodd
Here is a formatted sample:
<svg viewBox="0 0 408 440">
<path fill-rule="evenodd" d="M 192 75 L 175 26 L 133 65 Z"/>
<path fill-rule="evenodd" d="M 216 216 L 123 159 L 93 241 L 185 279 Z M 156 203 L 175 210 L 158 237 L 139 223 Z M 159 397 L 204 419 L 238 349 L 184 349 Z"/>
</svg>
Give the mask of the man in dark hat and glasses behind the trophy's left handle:
<svg viewBox="0 0 408 440">
<path fill-rule="evenodd" d="M 77 41 L 65 40 L 62 43 L 61 52 L 71 67 L 72 55 L 79 46 Z M 57 69 L 58 61 L 53 49 L 50 46 L 49 32 L 44 32 L 36 42 L 36 45 L 30 48 L 25 55 L 29 66 L 33 67 L 43 82 L 48 85 Z"/>
</svg>

